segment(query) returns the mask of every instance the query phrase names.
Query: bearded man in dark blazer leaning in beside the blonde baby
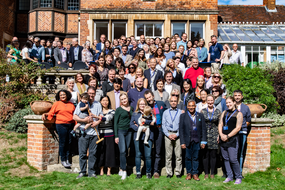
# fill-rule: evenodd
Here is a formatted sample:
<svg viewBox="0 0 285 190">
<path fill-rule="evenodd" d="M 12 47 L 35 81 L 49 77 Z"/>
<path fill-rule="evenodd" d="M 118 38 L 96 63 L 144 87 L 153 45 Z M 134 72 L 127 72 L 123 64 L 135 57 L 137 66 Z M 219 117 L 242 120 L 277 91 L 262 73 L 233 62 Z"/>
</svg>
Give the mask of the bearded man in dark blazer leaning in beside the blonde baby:
<svg viewBox="0 0 285 190">
<path fill-rule="evenodd" d="M 148 105 L 152 108 L 152 114 L 154 115 L 156 119 L 156 126 L 154 126 L 153 130 L 153 143 L 154 143 L 154 151 L 155 151 L 155 162 L 154 162 L 154 171 L 153 171 L 153 177 L 155 179 L 159 178 L 159 162 L 160 162 L 160 150 L 161 150 L 161 144 L 162 139 L 164 136 L 164 133 L 162 132 L 162 118 L 163 118 L 163 112 L 167 110 L 167 107 L 163 101 L 155 101 L 154 100 L 154 94 L 151 90 L 147 90 L 144 92 L 144 98 L 148 102 Z"/>
</svg>

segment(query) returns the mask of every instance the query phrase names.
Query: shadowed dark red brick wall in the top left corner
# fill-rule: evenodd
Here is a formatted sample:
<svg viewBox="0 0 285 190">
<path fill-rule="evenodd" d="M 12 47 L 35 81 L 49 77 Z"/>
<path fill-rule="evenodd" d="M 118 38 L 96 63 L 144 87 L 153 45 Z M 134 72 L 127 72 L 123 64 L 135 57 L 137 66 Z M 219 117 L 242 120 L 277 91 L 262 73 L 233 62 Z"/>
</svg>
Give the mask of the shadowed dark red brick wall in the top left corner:
<svg viewBox="0 0 285 190">
<path fill-rule="evenodd" d="M 1 0 L 0 3 L 0 47 L 3 47 L 3 32 L 14 36 L 16 0 Z M 4 42 L 6 44 L 6 42 Z M 8 43 L 9 44 L 9 43 Z"/>
</svg>

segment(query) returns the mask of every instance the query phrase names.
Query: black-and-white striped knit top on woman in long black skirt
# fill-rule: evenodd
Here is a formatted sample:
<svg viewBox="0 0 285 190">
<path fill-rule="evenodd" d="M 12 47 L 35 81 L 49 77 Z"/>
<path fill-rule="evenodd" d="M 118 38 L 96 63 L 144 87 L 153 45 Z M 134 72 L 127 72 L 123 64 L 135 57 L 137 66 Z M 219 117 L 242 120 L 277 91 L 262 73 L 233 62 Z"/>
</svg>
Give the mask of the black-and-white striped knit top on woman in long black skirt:
<svg viewBox="0 0 285 190">
<path fill-rule="evenodd" d="M 98 126 L 100 136 L 114 136 L 114 115 L 115 110 L 109 109 L 107 114 L 102 117 L 102 123 Z"/>
</svg>

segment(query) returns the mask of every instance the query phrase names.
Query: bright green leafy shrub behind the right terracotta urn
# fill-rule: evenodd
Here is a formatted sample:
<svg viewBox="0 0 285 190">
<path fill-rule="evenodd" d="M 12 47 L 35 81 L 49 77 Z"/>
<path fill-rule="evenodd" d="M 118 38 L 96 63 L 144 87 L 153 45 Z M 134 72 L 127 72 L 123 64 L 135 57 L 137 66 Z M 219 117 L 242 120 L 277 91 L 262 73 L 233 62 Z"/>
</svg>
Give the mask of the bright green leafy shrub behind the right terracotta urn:
<svg viewBox="0 0 285 190">
<path fill-rule="evenodd" d="M 243 91 L 243 103 L 265 104 L 267 111 L 275 111 L 278 108 L 273 96 L 273 77 L 268 71 L 231 64 L 223 67 L 221 74 L 227 95 L 232 96 L 234 90 L 240 89 Z"/>
</svg>

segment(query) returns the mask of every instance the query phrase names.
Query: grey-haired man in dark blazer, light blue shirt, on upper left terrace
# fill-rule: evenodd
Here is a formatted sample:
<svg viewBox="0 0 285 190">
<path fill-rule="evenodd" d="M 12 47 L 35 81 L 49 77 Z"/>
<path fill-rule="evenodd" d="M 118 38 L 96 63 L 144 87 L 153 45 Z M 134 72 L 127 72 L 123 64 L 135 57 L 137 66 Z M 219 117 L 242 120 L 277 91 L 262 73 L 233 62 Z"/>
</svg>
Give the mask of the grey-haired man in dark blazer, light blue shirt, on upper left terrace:
<svg viewBox="0 0 285 190">
<path fill-rule="evenodd" d="M 76 61 L 82 61 L 81 52 L 83 47 L 78 44 L 78 38 L 72 39 L 72 45 L 73 46 L 69 49 L 68 54 L 68 64 L 70 67 L 72 67 Z"/>
</svg>

